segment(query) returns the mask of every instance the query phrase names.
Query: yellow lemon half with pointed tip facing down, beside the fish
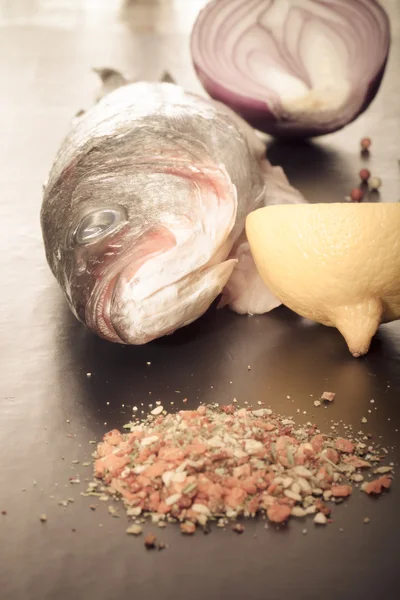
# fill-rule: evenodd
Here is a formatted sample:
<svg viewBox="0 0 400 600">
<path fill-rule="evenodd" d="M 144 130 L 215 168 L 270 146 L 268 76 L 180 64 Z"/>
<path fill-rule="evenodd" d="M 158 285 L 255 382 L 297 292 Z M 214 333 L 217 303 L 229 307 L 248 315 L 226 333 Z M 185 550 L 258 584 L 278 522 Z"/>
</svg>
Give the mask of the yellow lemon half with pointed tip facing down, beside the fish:
<svg viewBox="0 0 400 600">
<path fill-rule="evenodd" d="M 400 204 L 268 206 L 247 217 L 246 232 L 271 292 L 337 327 L 353 356 L 400 318 Z"/>
</svg>

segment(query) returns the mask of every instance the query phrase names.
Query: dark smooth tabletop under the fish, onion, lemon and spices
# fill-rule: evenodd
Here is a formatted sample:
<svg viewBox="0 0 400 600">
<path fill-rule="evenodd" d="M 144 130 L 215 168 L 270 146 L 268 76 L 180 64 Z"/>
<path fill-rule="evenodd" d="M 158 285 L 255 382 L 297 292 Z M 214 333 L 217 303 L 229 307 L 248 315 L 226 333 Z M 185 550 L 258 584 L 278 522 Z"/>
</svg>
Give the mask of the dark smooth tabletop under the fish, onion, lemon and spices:
<svg viewBox="0 0 400 600">
<path fill-rule="evenodd" d="M 202 3 L 0 2 L 2 600 L 400 597 L 397 481 L 376 502 L 354 494 L 325 529 L 291 522 L 265 530 L 253 522 L 242 536 L 214 529 L 184 538 L 170 526 L 162 553 L 146 552 L 106 506 L 91 511 L 84 485 L 69 483 L 75 474 L 90 477 L 81 464 L 93 451 L 89 440 L 121 427 L 133 405 L 146 410 L 161 399 L 181 407 L 185 396 L 186 407 L 261 399 L 283 414 L 315 418 L 323 430 L 331 419 L 357 428 L 366 416 L 364 428 L 400 459 L 400 323 L 381 327 L 360 360 L 336 330 L 284 308 L 253 318 L 211 310 L 171 338 L 125 348 L 77 323 L 50 274 L 39 227 L 42 183 L 71 117 L 92 102 L 91 67 L 152 79 L 167 68 L 200 91 L 188 32 Z M 341 200 L 356 184 L 364 135 L 373 139 L 369 163 L 384 181 L 382 201 L 400 198 L 400 3 L 384 4 L 393 49 L 370 110 L 315 143 L 269 145 L 271 161 L 311 201 Z M 336 392 L 335 402 L 317 409 L 313 400 L 324 390 Z M 58 504 L 68 497 L 67 508 Z"/>
</svg>

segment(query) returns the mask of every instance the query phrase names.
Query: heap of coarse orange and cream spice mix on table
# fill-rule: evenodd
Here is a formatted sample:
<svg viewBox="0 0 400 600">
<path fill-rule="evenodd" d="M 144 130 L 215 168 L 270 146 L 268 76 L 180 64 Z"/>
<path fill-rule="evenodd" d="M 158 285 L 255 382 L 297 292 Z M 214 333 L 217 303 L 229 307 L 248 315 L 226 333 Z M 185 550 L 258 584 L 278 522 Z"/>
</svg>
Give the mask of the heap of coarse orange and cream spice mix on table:
<svg viewBox="0 0 400 600">
<path fill-rule="evenodd" d="M 328 503 L 342 502 L 354 487 L 380 494 L 392 483 L 392 466 L 377 466 L 386 454 L 361 435 L 324 435 L 267 408 L 155 412 L 126 425 L 128 433 L 104 436 L 95 452 L 98 481 L 86 492 L 122 498 L 136 524 L 151 516 L 159 524 L 179 521 L 183 533 L 193 534 L 208 521 L 224 526 L 262 513 L 274 523 L 313 515 L 325 525 Z M 375 478 L 364 481 L 368 470 Z"/>
</svg>

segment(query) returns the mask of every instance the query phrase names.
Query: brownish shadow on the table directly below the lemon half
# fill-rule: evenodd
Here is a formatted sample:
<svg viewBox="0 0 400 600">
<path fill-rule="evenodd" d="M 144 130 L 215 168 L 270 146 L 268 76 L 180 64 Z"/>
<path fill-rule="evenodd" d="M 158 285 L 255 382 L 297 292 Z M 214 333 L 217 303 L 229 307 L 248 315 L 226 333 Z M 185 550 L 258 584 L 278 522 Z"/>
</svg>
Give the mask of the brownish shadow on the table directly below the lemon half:
<svg viewBox="0 0 400 600">
<path fill-rule="evenodd" d="M 395 422 L 400 410 L 400 402 L 395 401 L 400 397 L 399 325 L 381 327 L 369 353 L 355 359 L 336 329 L 300 322 L 280 337 L 273 352 L 265 350 L 254 361 L 257 380 L 249 394 L 251 402 L 268 390 L 274 410 L 281 409 L 284 414 L 300 411 L 299 418 L 304 413 L 315 414 L 319 420 L 343 419 L 358 429 L 365 416 L 368 425 L 364 431 L 390 439 L 395 435 L 390 418 Z M 322 403 L 317 408 L 314 401 L 324 391 L 334 392 L 336 398 L 332 405 Z"/>
</svg>

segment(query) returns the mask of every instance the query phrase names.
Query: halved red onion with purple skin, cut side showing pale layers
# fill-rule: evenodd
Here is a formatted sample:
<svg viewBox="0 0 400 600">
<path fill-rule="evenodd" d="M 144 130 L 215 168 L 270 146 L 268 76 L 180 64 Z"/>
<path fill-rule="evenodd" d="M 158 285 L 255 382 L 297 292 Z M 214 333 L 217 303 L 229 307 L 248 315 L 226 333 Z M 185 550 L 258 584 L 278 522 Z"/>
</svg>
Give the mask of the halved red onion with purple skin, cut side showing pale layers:
<svg viewBox="0 0 400 600">
<path fill-rule="evenodd" d="M 275 136 L 353 121 L 379 89 L 389 47 L 375 0 L 212 0 L 191 38 L 210 96 Z"/>
</svg>

